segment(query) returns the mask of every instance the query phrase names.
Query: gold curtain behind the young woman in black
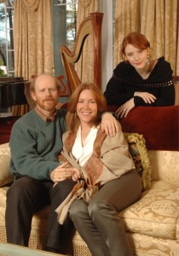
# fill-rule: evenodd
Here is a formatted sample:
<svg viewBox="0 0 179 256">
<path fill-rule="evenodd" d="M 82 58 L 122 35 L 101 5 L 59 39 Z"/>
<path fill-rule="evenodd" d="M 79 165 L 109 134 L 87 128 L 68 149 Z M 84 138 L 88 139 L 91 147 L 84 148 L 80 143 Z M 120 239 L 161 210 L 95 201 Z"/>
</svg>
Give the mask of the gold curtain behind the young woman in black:
<svg viewBox="0 0 179 256">
<path fill-rule="evenodd" d="M 149 40 L 153 57 L 164 55 L 174 75 L 179 75 L 178 5 L 177 0 L 116 0 L 114 67 L 121 61 L 123 38 L 138 31 Z"/>
</svg>

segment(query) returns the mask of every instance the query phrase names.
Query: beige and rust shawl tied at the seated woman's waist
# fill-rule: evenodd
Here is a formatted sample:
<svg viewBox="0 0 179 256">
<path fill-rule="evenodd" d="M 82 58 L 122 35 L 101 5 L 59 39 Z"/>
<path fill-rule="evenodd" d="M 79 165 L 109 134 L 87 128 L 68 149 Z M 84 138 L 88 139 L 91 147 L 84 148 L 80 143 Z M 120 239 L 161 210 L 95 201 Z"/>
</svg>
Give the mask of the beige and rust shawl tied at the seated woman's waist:
<svg viewBox="0 0 179 256">
<path fill-rule="evenodd" d="M 115 137 L 109 137 L 102 133 L 100 128 L 95 138 L 93 154 L 83 167 L 78 165 L 71 153 L 75 138 L 76 134 L 70 134 L 69 131 L 66 131 L 63 135 L 63 151 L 59 159 L 61 163 L 68 161 L 69 165 L 78 168 L 84 179 L 78 181 L 66 200 L 55 210 L 60 224 L 66 220 L 72 201 L 83 198 L 89 202 L 103 184 L 121 177 L 131 169 L 135 169 L 130 157 L 128 143 L 121 130 Z"/>
</svg>

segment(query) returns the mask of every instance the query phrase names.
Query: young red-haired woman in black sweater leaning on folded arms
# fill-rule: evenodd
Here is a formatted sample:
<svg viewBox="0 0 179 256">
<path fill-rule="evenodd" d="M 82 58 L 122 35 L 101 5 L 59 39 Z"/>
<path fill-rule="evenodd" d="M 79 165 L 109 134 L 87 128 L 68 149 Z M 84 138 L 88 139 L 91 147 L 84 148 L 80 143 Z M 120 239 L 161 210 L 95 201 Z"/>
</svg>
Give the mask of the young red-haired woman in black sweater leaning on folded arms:
<svg viewBox="0 0 179 256">
<path fill-rule="evenodd" d="M 165 57 L 152 59 L 150 43 L 139 32 L 131 32 L 121 45 L 123 61 L 113 70 L 104 96 L 108 105 L 118 105 L 117 113 L 126 117 L 136 106 L 162 107 L 175 103 L 172 69 Z"/>
</svg>

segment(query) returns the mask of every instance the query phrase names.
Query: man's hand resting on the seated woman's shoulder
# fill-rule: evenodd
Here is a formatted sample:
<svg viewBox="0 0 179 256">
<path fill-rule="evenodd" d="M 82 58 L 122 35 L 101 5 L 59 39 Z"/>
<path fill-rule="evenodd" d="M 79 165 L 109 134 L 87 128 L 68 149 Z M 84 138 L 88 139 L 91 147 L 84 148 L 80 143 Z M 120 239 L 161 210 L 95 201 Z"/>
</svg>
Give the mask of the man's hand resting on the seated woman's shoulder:
<svg viewBox="0 0 179 256">
<path fill-rule="evenodd" d="M 119 131 L 118 120 L 113 117 L 112 113 L 103 113 L 101 117 L 101 131 L 105 131 L 107 135 L 113 137 Z"/>
</svg>

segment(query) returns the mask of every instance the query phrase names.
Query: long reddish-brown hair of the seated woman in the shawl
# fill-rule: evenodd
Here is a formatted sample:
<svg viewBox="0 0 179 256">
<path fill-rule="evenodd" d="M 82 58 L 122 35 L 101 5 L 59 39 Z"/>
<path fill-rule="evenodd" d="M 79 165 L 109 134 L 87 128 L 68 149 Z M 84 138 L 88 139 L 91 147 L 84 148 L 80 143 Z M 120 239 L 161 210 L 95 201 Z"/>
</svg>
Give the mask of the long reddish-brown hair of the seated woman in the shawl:
<svg viewBox="0 0 179 256">
<path fill-rule="evenodd" d="M 91 90 L 95 97 L 95 102 L 97 104 L 98 114 L 95 119 L 95 125 L 99 125 L 101 122 L 101 113 L 107 111 L 107 101 L 105 96 L 102 95 L 101 90 L 94 84 L 82 83 L 73 91 L 72 96 L 70 96 L 68 102 L 68 112 L 66 114 L 66 125 L 68 130 L 73 133 L 78 130 L 80 125 L 80 120 L 77 115 L 77 104 L 80 93 L 83 90 Z"/>
</svg>

